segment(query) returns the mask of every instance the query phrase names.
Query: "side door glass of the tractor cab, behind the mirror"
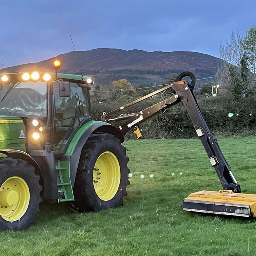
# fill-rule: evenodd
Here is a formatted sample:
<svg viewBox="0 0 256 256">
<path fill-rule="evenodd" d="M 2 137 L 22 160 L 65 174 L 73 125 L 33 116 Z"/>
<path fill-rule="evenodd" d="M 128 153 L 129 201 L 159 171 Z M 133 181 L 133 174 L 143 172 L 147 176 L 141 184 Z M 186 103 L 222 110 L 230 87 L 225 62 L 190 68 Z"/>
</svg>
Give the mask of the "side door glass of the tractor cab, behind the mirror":
<svg viewBox="0 0 256 256">
<path fill-rule="evenodd" d="M 70 83 L 70 97 L 59 96 L 58 83 L 53 84 L 55 98 L 54 152 L 64 153 L 65 146 L 80 122 L 91 114 L 90 95 L 87 88 Z"/>
</svg>

